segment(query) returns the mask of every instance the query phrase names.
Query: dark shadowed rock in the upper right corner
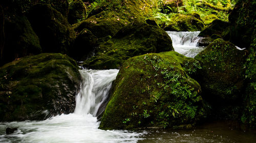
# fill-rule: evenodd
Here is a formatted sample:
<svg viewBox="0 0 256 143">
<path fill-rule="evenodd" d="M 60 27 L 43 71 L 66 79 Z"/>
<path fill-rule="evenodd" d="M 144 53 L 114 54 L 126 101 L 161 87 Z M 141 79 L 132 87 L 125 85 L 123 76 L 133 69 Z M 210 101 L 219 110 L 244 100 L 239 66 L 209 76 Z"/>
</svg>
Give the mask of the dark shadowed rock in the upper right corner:
<svg viewBox="0 0 256 143">
<path fill-rule="evenodd" d="M 229 14 L 230 29 L 225 35 L 229 40 L 241 48 L 249 48 L 254 36 L 256 25 L 256 3 L 254 1 L 239 0 Z"/>
</svg>

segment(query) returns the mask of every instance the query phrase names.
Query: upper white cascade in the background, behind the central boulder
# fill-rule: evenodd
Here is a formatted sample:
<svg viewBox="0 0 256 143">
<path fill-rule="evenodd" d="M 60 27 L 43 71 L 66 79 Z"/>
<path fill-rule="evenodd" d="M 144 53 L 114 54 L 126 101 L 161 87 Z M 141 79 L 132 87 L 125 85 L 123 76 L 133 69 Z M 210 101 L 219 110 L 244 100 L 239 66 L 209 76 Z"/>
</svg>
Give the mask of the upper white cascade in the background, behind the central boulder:
<svg viewBox="0 0 256 143">
<path fill-rule="evenodd" d="M 198 46 L 200 32 L 166 32 L 173 41 L 174 50 L 187 57 L 194 58 L 204 47 Z"/>
</svg>

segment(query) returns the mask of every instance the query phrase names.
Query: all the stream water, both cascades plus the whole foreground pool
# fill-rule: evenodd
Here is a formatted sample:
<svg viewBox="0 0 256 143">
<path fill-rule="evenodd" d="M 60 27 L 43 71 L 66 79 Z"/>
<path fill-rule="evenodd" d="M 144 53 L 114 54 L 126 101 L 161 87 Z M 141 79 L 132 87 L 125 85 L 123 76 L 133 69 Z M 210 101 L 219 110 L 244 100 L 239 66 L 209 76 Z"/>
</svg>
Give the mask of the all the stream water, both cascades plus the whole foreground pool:
<svg viewBox="0 0 256 143">
<path fill-rule="evenodd" d="M 177 52 L 194 57 L 198 32 L 167 32 Z M 0 142 L 256 142 L 256 132 L 233 122 L 211 122 L 188 130 L 100 130 L 97 111 L 106 99 L 118 70 L 80 70 L 81 90 L 74 113 L 45 121 L 0 122 Z M 17 127 L 6 135 L 7 127 Z"/>
</svg>

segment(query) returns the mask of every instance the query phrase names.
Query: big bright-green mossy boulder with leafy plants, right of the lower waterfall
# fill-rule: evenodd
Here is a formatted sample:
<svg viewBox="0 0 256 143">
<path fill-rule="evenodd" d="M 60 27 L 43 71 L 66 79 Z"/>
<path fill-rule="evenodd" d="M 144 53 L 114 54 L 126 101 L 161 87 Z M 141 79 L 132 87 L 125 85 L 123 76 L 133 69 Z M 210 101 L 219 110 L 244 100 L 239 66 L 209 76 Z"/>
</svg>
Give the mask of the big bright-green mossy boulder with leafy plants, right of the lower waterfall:
<svg viewBox="0 0 256 143">
<path fill-rule="evenodd" d="M 99 128 L 189 127 L 200 121 L 206 115 L 201 88 L 189 77 L 198 68 L 196 60 L 175 51 L 125 61 Z"/>
</svg>

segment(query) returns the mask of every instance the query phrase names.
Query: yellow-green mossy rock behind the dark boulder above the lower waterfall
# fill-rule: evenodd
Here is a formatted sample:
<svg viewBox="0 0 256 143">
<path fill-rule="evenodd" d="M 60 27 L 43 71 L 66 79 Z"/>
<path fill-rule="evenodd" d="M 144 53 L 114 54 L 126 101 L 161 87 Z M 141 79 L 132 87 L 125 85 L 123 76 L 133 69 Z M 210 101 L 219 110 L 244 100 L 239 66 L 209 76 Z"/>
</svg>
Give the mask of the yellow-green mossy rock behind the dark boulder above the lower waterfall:
<svg viewBox="0 0 256 143">
<path fill-rule="evenodd" d="M 74 25 L 74 30 L 78 33 L 84 28 L 90 30 L 97 38 L 114 36 L 129 21 L 119 17 L 114 11 L 103 11 L 97 15 L 83 20 Z"/>
</svg>

